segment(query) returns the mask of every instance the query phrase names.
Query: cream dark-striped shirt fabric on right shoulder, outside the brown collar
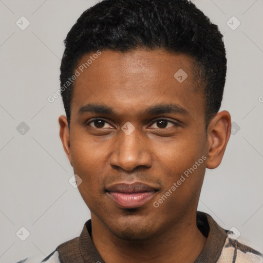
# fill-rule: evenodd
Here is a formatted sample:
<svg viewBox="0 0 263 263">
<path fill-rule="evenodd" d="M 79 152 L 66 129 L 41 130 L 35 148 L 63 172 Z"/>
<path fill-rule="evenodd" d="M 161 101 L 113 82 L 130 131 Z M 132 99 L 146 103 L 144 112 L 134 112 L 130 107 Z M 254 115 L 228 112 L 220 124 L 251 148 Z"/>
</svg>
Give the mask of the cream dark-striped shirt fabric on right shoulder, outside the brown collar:
<svg viewBox="0 0 263 263">
<path fill-rule="evenodd" d="M 263 254 L 242 242 L 227 237 L 217 262 L 261 263 L 263 262 Z"/>
</svg>

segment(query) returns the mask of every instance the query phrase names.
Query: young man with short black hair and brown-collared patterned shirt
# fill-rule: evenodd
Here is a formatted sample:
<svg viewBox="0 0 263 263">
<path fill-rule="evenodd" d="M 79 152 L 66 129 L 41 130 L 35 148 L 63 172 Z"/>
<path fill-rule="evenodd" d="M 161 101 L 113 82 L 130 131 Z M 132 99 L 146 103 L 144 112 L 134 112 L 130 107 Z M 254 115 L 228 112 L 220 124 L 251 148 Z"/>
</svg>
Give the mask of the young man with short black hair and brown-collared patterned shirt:
<svg viewBox="0 0 263 263">
<path fill-rule="evenodd" d="M 217 26 L 188 1 L 104 0 L 80 16 L 59 123 L 91 220 L 41 262 L 262 262 L 197 212 L 230 137 L 226 63 Z"/>
</svg>

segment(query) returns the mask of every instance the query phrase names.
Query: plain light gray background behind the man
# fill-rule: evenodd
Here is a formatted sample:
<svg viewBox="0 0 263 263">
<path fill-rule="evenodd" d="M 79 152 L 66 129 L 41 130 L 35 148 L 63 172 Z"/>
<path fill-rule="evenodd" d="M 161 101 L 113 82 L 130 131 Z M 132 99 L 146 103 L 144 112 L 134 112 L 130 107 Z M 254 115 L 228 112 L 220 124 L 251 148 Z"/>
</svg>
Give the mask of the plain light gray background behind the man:
<svg viewBox="0 0 263 263">
<path fill-rule="evenodd" d="M 78 236 L 90 218 L 78 189 L 68 182 L 73 170 L 59 138 L 61 98 L 53 103 L 47 98 L 60 87 L 67 32 L 95 3 L 0 0 L 0 262 L 44 258 Z M 224 34 L 228 76 L 221 109 L 236 123 L 221 165 L 206 171 L 198 209 L 225 229 L 235 227 L 241 239 L 263 251 L 263 2 L 194 3 Z M 30 22 L 25 30 L 16 25 L 21 16 Z M 232 16 L 241 22 L 235 30 L 227 25 Z M 21 227 L 30 232 L 25 241 L 16 236 Z"/>
</svg>

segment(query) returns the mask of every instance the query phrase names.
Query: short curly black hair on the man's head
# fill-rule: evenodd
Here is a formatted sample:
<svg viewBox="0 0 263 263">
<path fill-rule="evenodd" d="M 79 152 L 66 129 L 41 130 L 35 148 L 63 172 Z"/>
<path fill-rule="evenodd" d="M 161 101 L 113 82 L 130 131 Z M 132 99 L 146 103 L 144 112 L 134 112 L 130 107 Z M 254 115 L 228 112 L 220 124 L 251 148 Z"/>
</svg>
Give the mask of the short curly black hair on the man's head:
<svg viewBox="0 0 263 263">
<path fill-rule="evenodd" d="M 104 0 L 82 13 L 64 40 L 61 95 L 70 124 L 73 75 L 83 55 L 98 50 L 138 48 L 189 55 L 203 83 L 206 127 L 218 112 L 226 82 L 223 35 L 186 0 Z M 65 86 L 68 83 L 68 86 Z"/>
</svg>

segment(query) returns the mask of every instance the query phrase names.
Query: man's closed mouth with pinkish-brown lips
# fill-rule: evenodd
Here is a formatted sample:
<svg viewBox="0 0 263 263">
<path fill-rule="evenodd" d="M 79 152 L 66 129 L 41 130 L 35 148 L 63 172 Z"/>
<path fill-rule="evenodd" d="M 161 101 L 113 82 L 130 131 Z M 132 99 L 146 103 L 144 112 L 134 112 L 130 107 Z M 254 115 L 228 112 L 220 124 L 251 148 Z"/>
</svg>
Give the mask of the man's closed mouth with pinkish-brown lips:
<svg viewBox="0 0 263 263">
<path fill-rule="evenodd" d="M 156 187 L 145 183 L 118 183 L 106 187 L 106 194 L 118 206 L 125 209 L 139 208 L 158 192 Z"/>
</svg>

